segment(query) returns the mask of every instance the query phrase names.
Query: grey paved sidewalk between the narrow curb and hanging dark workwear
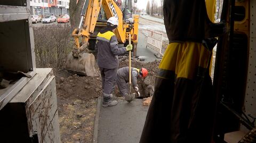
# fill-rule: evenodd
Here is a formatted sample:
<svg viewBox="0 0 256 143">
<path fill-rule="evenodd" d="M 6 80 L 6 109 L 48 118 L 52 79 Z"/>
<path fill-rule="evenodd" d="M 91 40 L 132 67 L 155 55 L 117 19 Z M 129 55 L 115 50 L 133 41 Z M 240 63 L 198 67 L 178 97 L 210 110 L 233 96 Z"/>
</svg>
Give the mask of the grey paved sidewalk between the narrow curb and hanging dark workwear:
<svg viewBox="0 0 256 143">
<path fill-rule="evenodd" d="M 118 99 L 116 106 L 102 107 L 101 100 L 98 104 L 98 125 L 94 127 L 93 142 L 139 142 L 148 106 L 143 106 L 141 99 L 134 99 L 131 103 Z"/>
</svg>

